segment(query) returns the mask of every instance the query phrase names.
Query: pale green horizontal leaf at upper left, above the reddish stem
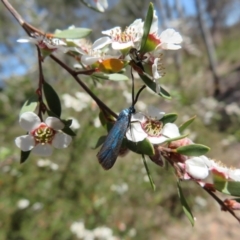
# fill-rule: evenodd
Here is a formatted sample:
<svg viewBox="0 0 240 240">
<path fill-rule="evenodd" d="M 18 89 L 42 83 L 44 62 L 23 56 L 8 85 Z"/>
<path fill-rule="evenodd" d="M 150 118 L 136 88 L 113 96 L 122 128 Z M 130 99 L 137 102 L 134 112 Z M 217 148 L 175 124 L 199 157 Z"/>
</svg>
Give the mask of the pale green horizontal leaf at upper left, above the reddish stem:
<svg viewBox="0 0 240 240">
<path fill-rule="evenodd" d="M 70 39 L 79 39 L 87 37 L 91 33 L 91 29 L 89 28 L 72 28 L 66 29 L 63 31 L 58 31 L 54 34 L 56 38 L 70 38 Z"/>
</svg>

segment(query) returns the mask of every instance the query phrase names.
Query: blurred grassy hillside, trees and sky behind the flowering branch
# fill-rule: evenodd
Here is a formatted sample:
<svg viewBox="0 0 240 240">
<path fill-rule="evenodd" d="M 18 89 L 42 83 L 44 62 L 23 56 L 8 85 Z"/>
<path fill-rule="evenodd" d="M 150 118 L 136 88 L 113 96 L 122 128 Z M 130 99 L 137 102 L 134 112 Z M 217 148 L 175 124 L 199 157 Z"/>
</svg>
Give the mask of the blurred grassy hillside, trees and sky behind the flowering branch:
<svg viewBox="0 0 240 240">
<path fill-rule="evenodd" d="M 151 104 L 176 112 L 177 124 L 196 115 L 189 137 L 211 147 L 209 157 L 239 168 L 240 1 L 152 2 L 159 28 L 174 28 L 184 41 L 180 51 L 163 53 L 166 74 L 160 80 L 173 100 L 145 91 L 138 110 Z M 93 30 L 94 41 L 102 30 L 144 19 L 149 2 L 110 0 L 104 13 L 79 0 L 12 0 L 11 4 L 42 31 L 87 27 Z M 184 194 L 197 218 L 195 227 L 190 225 L 170 168 L 149 162 L 155 192 L 134 153 L 118 158 L 110 171 L 103 170 L 98 150 L 93 149 L 105 134 L 99 109 L 50 58 L 44 61 L 45 80 L 61 98 L 63 118 L 76 119 L 77 136 L 68 149 L 55 150 L 51 158 L 31 155 L 20 165 L 14 139 L 25 134 L 18 125 L 19 110 L 37 86 L 37 53 L 34 45 L 16 42 L 26 34 L 2 3 L 0 19 L 0 239 L 239 239 L 238 222 L 221 212 L 196 184 L 184 182 Z M 131 105 L 130 81 L 103 82 L 99 88 L 89 79 L 85 82 L 113 111 Z M 137 79 L 137 87 L 141 84 Z"/>
</svg>

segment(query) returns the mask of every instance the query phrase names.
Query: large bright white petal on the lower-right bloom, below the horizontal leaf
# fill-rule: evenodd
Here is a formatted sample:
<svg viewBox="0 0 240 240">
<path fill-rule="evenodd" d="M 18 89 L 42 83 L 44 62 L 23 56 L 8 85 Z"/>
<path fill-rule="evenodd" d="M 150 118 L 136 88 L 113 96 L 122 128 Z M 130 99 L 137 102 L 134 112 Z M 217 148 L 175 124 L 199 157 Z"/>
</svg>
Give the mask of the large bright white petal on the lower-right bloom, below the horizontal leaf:
<svg viewBox="0 0 240 240">
<path fill-rule="evenodd" d="M 205 179 L 209 170 L 201 157 L 193 157 L 186 162 L 186 172 L 195 179 Z"/>
</svg>

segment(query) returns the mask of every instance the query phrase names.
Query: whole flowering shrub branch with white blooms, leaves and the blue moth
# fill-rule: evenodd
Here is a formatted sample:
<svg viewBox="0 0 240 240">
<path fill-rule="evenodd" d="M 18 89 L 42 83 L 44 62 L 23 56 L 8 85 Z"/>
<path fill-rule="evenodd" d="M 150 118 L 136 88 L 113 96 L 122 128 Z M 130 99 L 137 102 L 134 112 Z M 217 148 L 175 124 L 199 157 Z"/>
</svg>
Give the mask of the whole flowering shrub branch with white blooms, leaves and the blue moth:
<svg viewBox="0 0 240 240">
<path fill-rule="evenodd" d="M 178 190 L 184 211 L 192 224 L 194 218 L 181 190 L 180 182 L 191 180 L 201 186 L 222 210 L 231 213 L 239 222 L 234 210 L 239 210 L 238 199 L 222 201 L 216 195 L 219 191 L 230 196 L 240 195 L 240 170 L 230 169 L 222 163 L 209 159 L 205 154 L 210 150 L 207 146 L 195 144 L 187 135 L 182 135 L 195 119 L 189 119 L 181 126 L 174 122 L 177 114 L 162 112 L 154 107 L 146 113 L 137 112 L 135 104 L 140 93 L 148 87 L 156 95 L 171 99 L 171 95 L 161 86 L 163 77 L 161 62 L 162 51 L 178 50 L 181 48 L 182 37 L 174 29 L 166 29 L 158 33 L 158 18 L 153 4 L 150 3 L 145 21 L 135 20 L 125 30 L 114 27 L 102 31 L 106 36 L 90 44 L 87 37 L 91 30 L 70 27 L 55 33 L 45 34 L 26 23 L 7 0 L 2 0 L 8 11 L 15 17 L 28 34 L 18 42 L 33 43 L 38 52 L 39 79 L 38 88 L 33 98 L 28 99 L 21 109 L 20 126 L 27 131 L 26 135 L 15 139 L 16 146 L 22 150 L 21 162 L 29 157 L 30 152 L 49 156 L 53 147 L 67 148 L 75 133 L 70 128 L 72 121 L 61 118 L 61 101 L 54 88 L 44 79 L 42 64 L 46 57 L 65 69 L 84 91 L 96 102 L 102 115 L 102 125 L 110 123 L 111 130 L 107 136 L 99 138 L 96 147 L 102 145 L 97 158 L 105 169 L 110 169 L 119 155 L 125 155 L 129 150 L 143 156 L 150 182 L 152 181 L 145 156 L 156 165 L 170 163 L 178 177 Z M 85 1 L 82 1 L 87 4 Z M 107 1 L 95 1 L 97 9 L 104 11 Z M 91 6 L 92 8 L 92 6 Z M 61 52 L 76 60 L 70 67 L 57 57 Z M 128 77 L 123 74 L 125 68 L 131 68 L 132 105 L 117 115 L 99 97 L 97 97 L 79 75 L 87 75 L 92 79 L 109 81 L 125 81 Z M 139 92 L 134 94 L 135 70 L 143 81 Z M 37 111 L 37 114 L 35 113 Z M 48 117 L 44 120 L 44 114 Z M 212 176 L 212 182 L 206 178 Z"/>
</svg>

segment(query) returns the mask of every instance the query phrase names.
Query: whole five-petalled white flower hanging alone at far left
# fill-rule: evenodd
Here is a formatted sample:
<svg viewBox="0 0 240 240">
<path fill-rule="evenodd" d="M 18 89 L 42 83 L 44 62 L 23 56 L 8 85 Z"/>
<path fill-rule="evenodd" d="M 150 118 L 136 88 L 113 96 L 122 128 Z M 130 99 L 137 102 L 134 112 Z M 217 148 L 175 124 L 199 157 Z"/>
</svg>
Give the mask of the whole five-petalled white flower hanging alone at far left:
<svg viewBox="0 0 240 240">
<path fill-rule="evenodd" d="M 30 151 L 36 155 L 50 156 L 52 146 L 55 148 L 66 148 L 72 138 L 59 130 L 64 124 L 55 117 L 48 117 L 44 122 L 33 112 L 25 112 L 20 116 L 20 126 L 28 132 L 15 139 L 15 144 L 22 151 Z"/>
</svg>

